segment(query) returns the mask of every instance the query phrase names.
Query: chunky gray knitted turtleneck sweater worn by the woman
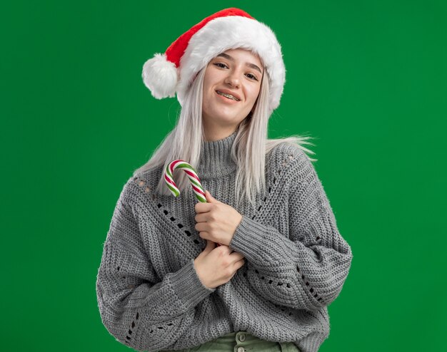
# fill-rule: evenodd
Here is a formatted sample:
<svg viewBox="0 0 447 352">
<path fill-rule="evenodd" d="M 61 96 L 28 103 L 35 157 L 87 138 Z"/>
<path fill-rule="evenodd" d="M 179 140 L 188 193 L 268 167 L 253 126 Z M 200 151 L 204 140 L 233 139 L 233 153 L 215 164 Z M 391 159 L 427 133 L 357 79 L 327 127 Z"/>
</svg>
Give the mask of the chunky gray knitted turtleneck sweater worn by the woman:
<svg viewBox="0 0 447 352">
<path fill-rule="evenodd" d="M 235 206 L 236 133 L 205 142 L 196 171 L 205 190 L 242 216 L 230 248 L 245 264 L 209 289 L 194 259 L 206 246 L 195 229 L 196 197 L 154 193 L 162 167 L 123 187 L 104 242 L 96 279 L 101 320 L 137 351 L 198 346 L 233 331 L 293 341 L 318 351 L 329 334 L 327 306 L 351 266 L 326 194 L 306 154 L 281 143 L 266 155 L 268 192 L 256 209 Z"/>
</svg>

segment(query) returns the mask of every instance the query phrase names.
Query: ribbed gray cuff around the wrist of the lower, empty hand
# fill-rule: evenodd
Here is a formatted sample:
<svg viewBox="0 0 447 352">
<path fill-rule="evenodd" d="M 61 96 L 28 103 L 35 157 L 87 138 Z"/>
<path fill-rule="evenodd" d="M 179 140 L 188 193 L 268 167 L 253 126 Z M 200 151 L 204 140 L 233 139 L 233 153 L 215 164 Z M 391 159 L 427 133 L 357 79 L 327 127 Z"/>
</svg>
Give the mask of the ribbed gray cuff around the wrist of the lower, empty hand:
<svg viewBox="0 0 447 352">
<path fill-rule="evenodd" d="M 194 308 L 216 289 L 209 289 L 201 283 L 196 269 L 194 259 L 191 259 L 180 270 L 171 276 L 171 285 L 176 295 L 187 308 Z"/>
</svg>

